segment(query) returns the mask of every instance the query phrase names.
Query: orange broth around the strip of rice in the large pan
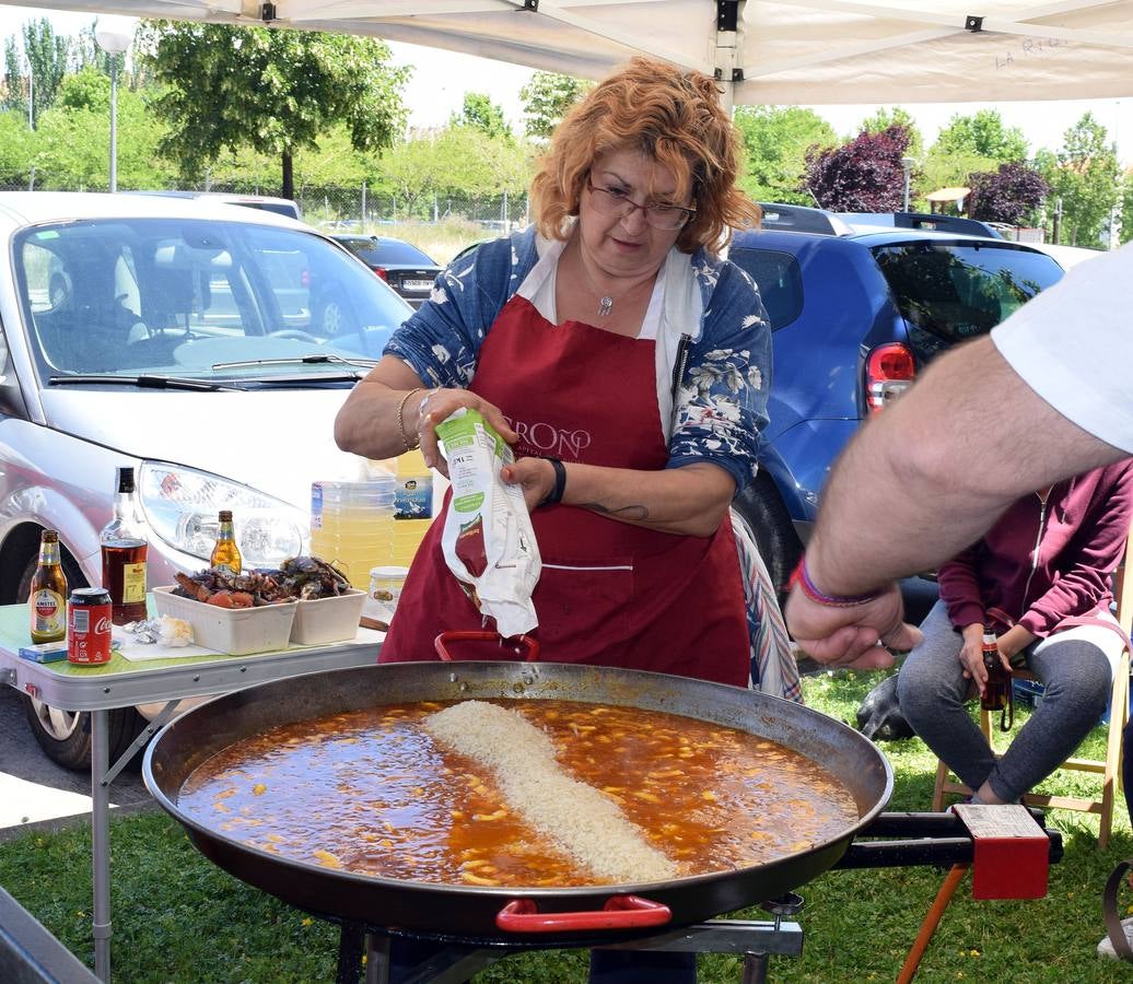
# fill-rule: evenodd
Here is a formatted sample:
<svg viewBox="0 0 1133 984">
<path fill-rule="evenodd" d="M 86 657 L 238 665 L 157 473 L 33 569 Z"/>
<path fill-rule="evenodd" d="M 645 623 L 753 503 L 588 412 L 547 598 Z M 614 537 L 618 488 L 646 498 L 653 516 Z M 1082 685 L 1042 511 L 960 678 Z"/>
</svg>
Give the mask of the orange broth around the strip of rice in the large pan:
<svg viewBox="0 0 1133 984">
<path fill-rule="evenodd" d="M 548 734 L 559 765 L 610 796 L 682 875 L 765 864 L 859 820 L 812 760 L 734 728 L 615 705 L 493 703 Z M 178 803 L 248 846 L 352 873 L 599 883 L 517 815 L 485 767 L 433 741 L 421 721 L 444 707 L 389 704 L 245 738 L 199 765 Z"/>
</svg>

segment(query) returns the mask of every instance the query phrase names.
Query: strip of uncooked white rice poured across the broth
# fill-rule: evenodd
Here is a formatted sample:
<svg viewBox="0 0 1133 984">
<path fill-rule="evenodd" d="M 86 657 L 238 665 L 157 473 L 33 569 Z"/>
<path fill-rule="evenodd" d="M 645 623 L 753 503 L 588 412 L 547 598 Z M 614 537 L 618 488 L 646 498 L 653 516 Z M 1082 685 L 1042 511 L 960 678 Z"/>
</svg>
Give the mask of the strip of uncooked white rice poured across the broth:
<svg viewBox="0 0 1133 984">
<path fill-rule="evenodd" d="M 519 712 L 463 701 L 429 715 L 425 728 L 487 768 L 508 805 L 595 875 L 617 883 L 678 875 L 676 863 L 653 847 L 616 804 L 563 772 L 551 738 Z"/>
</svg>

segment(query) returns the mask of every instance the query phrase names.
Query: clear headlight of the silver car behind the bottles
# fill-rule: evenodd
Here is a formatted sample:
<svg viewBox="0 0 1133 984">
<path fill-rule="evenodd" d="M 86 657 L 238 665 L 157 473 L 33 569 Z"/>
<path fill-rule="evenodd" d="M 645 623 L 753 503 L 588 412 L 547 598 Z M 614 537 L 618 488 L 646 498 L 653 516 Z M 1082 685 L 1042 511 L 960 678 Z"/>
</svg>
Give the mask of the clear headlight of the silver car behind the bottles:
<svg viewBox="0 0 1133 984">
<path fill-rule="evenodd" d="M 307 516 L 295 506 L 220 476 L 144 461 L 139 499 L 146 522 L 177 550 L 208 561 L 220 532 L 218 513 L 232 511 L 246 567 L 278 567 L 306 553 Z"/>
</svg>

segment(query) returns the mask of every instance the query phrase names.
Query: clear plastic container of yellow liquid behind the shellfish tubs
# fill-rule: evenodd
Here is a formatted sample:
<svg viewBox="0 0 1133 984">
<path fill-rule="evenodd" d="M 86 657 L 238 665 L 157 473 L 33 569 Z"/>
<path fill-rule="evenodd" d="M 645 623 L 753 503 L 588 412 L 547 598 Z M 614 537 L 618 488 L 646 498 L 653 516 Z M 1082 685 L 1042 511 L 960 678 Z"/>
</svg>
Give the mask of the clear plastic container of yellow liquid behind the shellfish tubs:
<svg viewBox="0 0 1133 984">
<path fill-rule="evenodd" d="M 393 554 L 394 486 L 392 474 L 310 486 L 310 553 L 332 561 L 364 591 L 370 568 Z"/>
</svg>

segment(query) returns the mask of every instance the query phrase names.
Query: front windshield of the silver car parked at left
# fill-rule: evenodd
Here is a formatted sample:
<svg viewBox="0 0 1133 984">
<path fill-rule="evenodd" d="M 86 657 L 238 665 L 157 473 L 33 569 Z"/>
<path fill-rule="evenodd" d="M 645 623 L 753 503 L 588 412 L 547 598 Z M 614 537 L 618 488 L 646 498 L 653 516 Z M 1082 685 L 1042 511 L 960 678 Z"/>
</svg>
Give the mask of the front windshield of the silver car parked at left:
<svg viewBox="0 0 1133 984">
<path fill-rule="evenodd" d="M 24 230 L 12 258 L 44 378 L 341 375 L 343 361 L 380 359 L 412 314 L 303 230 L 99 219 Z"/>
</svg>

